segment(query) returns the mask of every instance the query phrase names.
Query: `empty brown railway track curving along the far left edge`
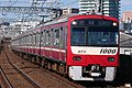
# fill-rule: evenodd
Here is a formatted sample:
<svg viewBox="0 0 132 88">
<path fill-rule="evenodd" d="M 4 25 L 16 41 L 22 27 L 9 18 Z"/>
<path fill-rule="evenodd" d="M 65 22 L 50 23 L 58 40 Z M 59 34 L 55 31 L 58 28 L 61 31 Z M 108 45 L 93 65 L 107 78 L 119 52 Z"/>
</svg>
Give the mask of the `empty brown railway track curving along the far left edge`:
<svg viewBox="0 0 132 88">
<path fill-rule="evenodd" d="M 31 87 L 41 88 L 33 79 L 24 74 L 16 65 L 14 65 L 8 55 L 8 51 L 2 51 L 1 57 L 8 61 L 8 64 L 1 66 L 1 78 L 4 80 L 3 88 Z"/>
</svg>

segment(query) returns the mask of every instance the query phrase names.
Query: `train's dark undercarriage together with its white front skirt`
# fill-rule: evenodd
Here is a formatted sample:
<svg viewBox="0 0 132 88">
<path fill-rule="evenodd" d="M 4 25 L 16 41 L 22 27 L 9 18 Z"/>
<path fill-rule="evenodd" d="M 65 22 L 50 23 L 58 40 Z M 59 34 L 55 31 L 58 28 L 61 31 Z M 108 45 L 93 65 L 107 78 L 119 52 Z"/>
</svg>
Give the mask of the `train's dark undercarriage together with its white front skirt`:
<svg viewBox="0 0 132 88">
<path fill-rule="evenodd" d="M 117 73 L 117 67 L 101 67 L 99 65 L 89 65 L 85 67 L 66 66 L 65 63 L 54 61 L 53 58 L 18 52 L 14 50 L 12 51 L 20 57 L 40 65 L 40 67 L 54 70 L 61 75 L 67 76 L 73 80 L 112 81 Z"/>
</svg>

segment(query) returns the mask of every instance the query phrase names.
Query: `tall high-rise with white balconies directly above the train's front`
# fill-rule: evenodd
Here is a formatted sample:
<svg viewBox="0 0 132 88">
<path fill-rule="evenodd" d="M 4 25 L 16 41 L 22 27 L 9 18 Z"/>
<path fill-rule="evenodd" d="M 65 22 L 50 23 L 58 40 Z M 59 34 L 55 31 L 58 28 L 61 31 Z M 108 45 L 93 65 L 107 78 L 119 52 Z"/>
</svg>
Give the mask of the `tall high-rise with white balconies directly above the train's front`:
<svg viewBox="0 0 132 88">
<path fill-rule="evenodd" d="M 119 19 L 120 0 L 79 0 L 79 13 L 97 13 Z"/>
</svg>

